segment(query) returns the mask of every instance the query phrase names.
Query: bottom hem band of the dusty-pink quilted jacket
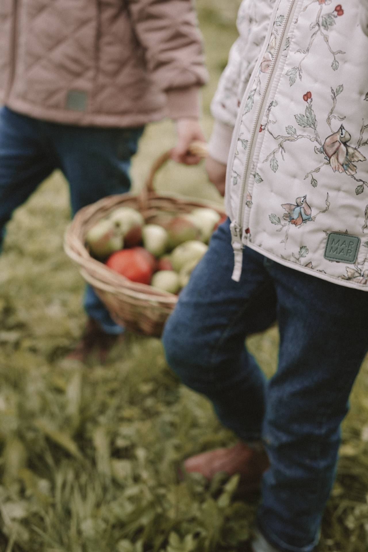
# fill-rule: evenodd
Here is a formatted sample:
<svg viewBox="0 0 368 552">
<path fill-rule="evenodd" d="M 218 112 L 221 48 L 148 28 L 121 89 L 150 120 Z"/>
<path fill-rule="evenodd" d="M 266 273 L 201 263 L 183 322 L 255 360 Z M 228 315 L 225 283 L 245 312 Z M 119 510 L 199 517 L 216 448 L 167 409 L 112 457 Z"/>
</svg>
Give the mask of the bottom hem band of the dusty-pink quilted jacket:
<svg viewBox="0 0 368 552">
<path fill-rule="evenodd" d="M 158 111 L 152 111 L 144 114 L 122 113 L 121 115 L 108 115 L 105 113 L 81 113 L 66 109 L 49 109 L 31 104 L 29 102 L 23 102 L 19 99 L 8 99 L 4 104 L 9 109 L 34 119 L 76 126 L 129 128 L 134 126 L 143 126 L 147 123 L 153 123 L 153 121 L 159 121 L 168 116 L 167 110 L 162 108 Z"/>
</svg>

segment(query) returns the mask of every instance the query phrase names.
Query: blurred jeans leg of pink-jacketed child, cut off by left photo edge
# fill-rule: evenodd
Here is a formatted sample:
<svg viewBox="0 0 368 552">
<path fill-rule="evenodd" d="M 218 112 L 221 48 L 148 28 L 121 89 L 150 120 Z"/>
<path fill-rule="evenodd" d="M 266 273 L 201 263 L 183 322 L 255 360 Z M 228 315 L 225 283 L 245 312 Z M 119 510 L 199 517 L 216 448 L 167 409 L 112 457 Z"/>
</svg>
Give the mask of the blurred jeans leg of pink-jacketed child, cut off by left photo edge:
<svg viewBox="0 0 368 552">
<path fill-rule="evenodd" d="M 55 168 L 41 130 L 38 120 L 0 109 L 0 247 L 14 209 Z"/>
</svg>

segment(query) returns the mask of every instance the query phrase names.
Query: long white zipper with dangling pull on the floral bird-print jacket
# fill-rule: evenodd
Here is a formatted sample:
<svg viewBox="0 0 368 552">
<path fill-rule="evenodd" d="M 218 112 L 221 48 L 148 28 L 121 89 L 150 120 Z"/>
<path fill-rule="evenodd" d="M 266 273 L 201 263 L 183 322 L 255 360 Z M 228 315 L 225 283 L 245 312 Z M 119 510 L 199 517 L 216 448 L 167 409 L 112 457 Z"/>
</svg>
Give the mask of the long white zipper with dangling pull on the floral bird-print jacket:
<svg viewBox="0 0 368 552">
<path fill-rule="evenodd" d="M 279 36 L 278 44 L 276 46 L 274 59 L 272 60 L 272 63 L 270 65 L 265 86 L 263 88 L 263 92 L 258 102 L 257 111 L 255 112 L 252 130 L 249 135 L 248 143 L 250 144 L 250 147 L 247 153 L 246 162 L 244 164 L 244 172 L 243 172 L 242 181 L 241 181 L 241 190 L 240 190 L 241 200 L 239 203 L 238 216 L 237 216 L 237 219 L 234 220 L 230 225 L 231 243 L 234 250 L 234 271 L 232 274 L 232 279 L 235 282 L 239 282 L 241 273 L 242 273 L 242 264 L 243 264 L 242 219 L 243 219 L 244 197 L 246 196 L 246 193 L 247 193 L 247 183 L 249 181 L 250 171 L 252 170 L 252 166 L 250 165 L 250 160 L 253 158 L 255 147 L 257 146 L 257 131 L 263 119 L 264 105 L 267 104 L 269 99 L 271 87 L 274 82 L 275 69 L 279 65 L 282 51 L 283 51 L 282 46 L 285 44 L 285 39 L 286 39 L 285 35 L 289 33 L 297 3 L 298 3 L 298 0 L 291 0 L 289 4 L 289 8 L 287 9 L 286 16 L 280 30 L 280 36 Z"/>
</svg>

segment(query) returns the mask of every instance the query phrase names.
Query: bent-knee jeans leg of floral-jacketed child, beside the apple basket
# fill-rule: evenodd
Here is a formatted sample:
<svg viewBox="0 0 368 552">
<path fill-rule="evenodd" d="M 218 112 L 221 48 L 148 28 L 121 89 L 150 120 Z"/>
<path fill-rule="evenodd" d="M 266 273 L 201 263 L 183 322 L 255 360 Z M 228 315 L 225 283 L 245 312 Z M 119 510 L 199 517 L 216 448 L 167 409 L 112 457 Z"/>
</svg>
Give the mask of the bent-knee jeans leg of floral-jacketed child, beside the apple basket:
<svg viewBox="0 0 368 552">
<path fill-rule="evenodd" d="M 220 421 L 242 440 L 260 438 L 265 378 L 244 340 L 275 320 L 275 292 L 263 257 L 247 250 L 241 282 L 231 280 L 229 221 L 179 295 L 164 328 L 168 364 L 184 384 L 205 394 Z"/>
</svg>

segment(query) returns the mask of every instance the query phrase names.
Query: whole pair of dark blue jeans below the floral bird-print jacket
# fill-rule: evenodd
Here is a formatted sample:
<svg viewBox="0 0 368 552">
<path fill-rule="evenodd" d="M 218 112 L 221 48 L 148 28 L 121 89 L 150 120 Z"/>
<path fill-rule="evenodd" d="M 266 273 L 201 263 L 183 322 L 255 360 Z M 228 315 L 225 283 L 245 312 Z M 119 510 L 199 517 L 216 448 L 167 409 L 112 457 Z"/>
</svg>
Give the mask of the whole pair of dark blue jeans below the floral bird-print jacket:
<svg viewBox="0 0 368 552">
<path fill-rule="evenodd" d="M 271 465 L 260 532 L 282 552 L 310 552 L 334 482 L 340 424 L 368 350 L 368 293 L 249 248 L 239 283 L 232 270 L 227 220 L 167 322 L 167 361 L 184 384 L 209 397 L 240 439 L 263 439 Z M 266 381 L 244 339 L 276 320 L 279 366 Z"/>
</svg>

